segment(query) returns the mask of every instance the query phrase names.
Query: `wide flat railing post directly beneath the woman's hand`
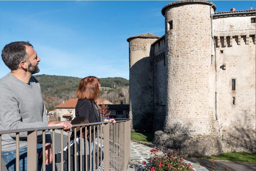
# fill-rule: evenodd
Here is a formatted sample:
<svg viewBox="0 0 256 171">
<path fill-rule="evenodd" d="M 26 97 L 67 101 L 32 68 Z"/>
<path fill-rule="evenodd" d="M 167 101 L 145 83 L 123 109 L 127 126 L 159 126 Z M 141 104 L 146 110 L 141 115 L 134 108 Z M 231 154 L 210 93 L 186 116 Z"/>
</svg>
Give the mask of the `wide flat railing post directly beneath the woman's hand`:
<svg viewBox="0 0 256 171">
<path fill-rule="evenodd" d="M 109 171 L 109 127 L 110 123 L 104 125 L 104 171 Z"/>
</svg>

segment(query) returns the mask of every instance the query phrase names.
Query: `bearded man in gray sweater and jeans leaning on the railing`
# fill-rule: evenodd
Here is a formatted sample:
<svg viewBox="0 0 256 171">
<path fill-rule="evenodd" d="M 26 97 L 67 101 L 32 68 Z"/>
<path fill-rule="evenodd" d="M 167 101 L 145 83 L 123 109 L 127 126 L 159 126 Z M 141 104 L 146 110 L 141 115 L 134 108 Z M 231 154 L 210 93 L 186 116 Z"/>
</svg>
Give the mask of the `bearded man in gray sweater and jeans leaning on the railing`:
<svg viewBox="0 0 256 171">
<path fill-rule="evenodd" d="M 11 70 L 0 79 L 0 130 L 63 126 L 69 131 L 68 121 L 48 122 L 43 103 L 40 84 L 32 76 L 38 73 L 40 58 L 29 42 L 11 42 L 2 50 L 2 59 Z M 37 153 L 42 156 L 42 133 L 38 132 Z M 2 158 L 8 170 L 16 167 L 15 134 L 2 135 Z M 52 162 L 51 135 L 46 133 L 46 164 Z M 20 133 L 19 168 L 27 170 L 27 133 Z M 39 160 L 38 160 L 39 161 Z M 38 162 L 39 163 L 39 162 Z M 38 164 L 38 170 L 39 164 Z"/>
</svg>

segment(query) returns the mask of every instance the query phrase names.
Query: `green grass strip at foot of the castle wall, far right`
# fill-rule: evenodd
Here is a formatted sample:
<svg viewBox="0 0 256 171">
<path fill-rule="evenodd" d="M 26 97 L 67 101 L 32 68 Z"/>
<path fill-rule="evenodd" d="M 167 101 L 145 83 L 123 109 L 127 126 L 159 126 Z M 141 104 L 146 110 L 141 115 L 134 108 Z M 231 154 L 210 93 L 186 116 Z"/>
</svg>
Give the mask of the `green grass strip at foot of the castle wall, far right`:
<svg viewBox="0 0 256 171">
<path fill-rule="evenodd" d="M 256 160 L 255 153 L 243 153 L 243 152 L 226 152 L 220 155 L 200 156 L 196 158 L 202 158 L 202 159 L 214 158 L 214 160 L 229 160 L 229 161 L 252 162 L 252 163 L 255 163 L 255 160 Z"/>
</svg>

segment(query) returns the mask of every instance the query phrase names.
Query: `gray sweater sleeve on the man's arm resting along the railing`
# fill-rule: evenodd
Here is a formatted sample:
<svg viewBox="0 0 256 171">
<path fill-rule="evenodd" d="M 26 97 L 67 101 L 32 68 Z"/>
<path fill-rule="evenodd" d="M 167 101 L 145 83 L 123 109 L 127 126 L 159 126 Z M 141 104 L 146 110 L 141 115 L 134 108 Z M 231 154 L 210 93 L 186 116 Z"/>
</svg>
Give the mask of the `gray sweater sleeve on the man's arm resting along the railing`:
<svg viewBox="0 0 256 171">
<path fill-rule="evenodd" d="M 0 130 L 25 129 L 36 127 L 47 127 L 48 121 L 43 122 L 22 122 L 21 114 L 19 113 L 19 98 L 10 89 L 0 87 L 0 113 L 1 113 L 1 128 Z M 47 118 L 47 116 L 46 116 Z M 14 134 L 9 134 L 15 137 Z M 27 132 L 21 132 L 20 137 L 27 137 Z"/>
</svg>

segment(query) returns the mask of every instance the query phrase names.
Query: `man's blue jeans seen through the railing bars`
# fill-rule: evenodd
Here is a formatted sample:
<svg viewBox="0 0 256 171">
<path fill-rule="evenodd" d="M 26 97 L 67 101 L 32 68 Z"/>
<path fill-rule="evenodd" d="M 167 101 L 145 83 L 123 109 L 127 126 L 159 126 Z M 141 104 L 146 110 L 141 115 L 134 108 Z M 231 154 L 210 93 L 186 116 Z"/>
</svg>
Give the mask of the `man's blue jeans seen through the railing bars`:
<svg viewBox="0 0 256 171">
<path fill-rule="evenodd" d="M 42 161 L 38 160 L 38 156 L 42 150 L 42 144 L 37 143 L 37 170 L 40 171 L 40 167 L 42 167 Z M 27 146 L 21 147 L 19 149 L 20 161 L 19 161 L 19 168 L 20 171 L 27 170 Z M 3 162 L 7 170 L 15 171 L 16 170 L 16 150 L 9 151 L 9 152 L 2 152 Z M 42 158 L 41 158 L 42 159 Z"/>
</svg>

